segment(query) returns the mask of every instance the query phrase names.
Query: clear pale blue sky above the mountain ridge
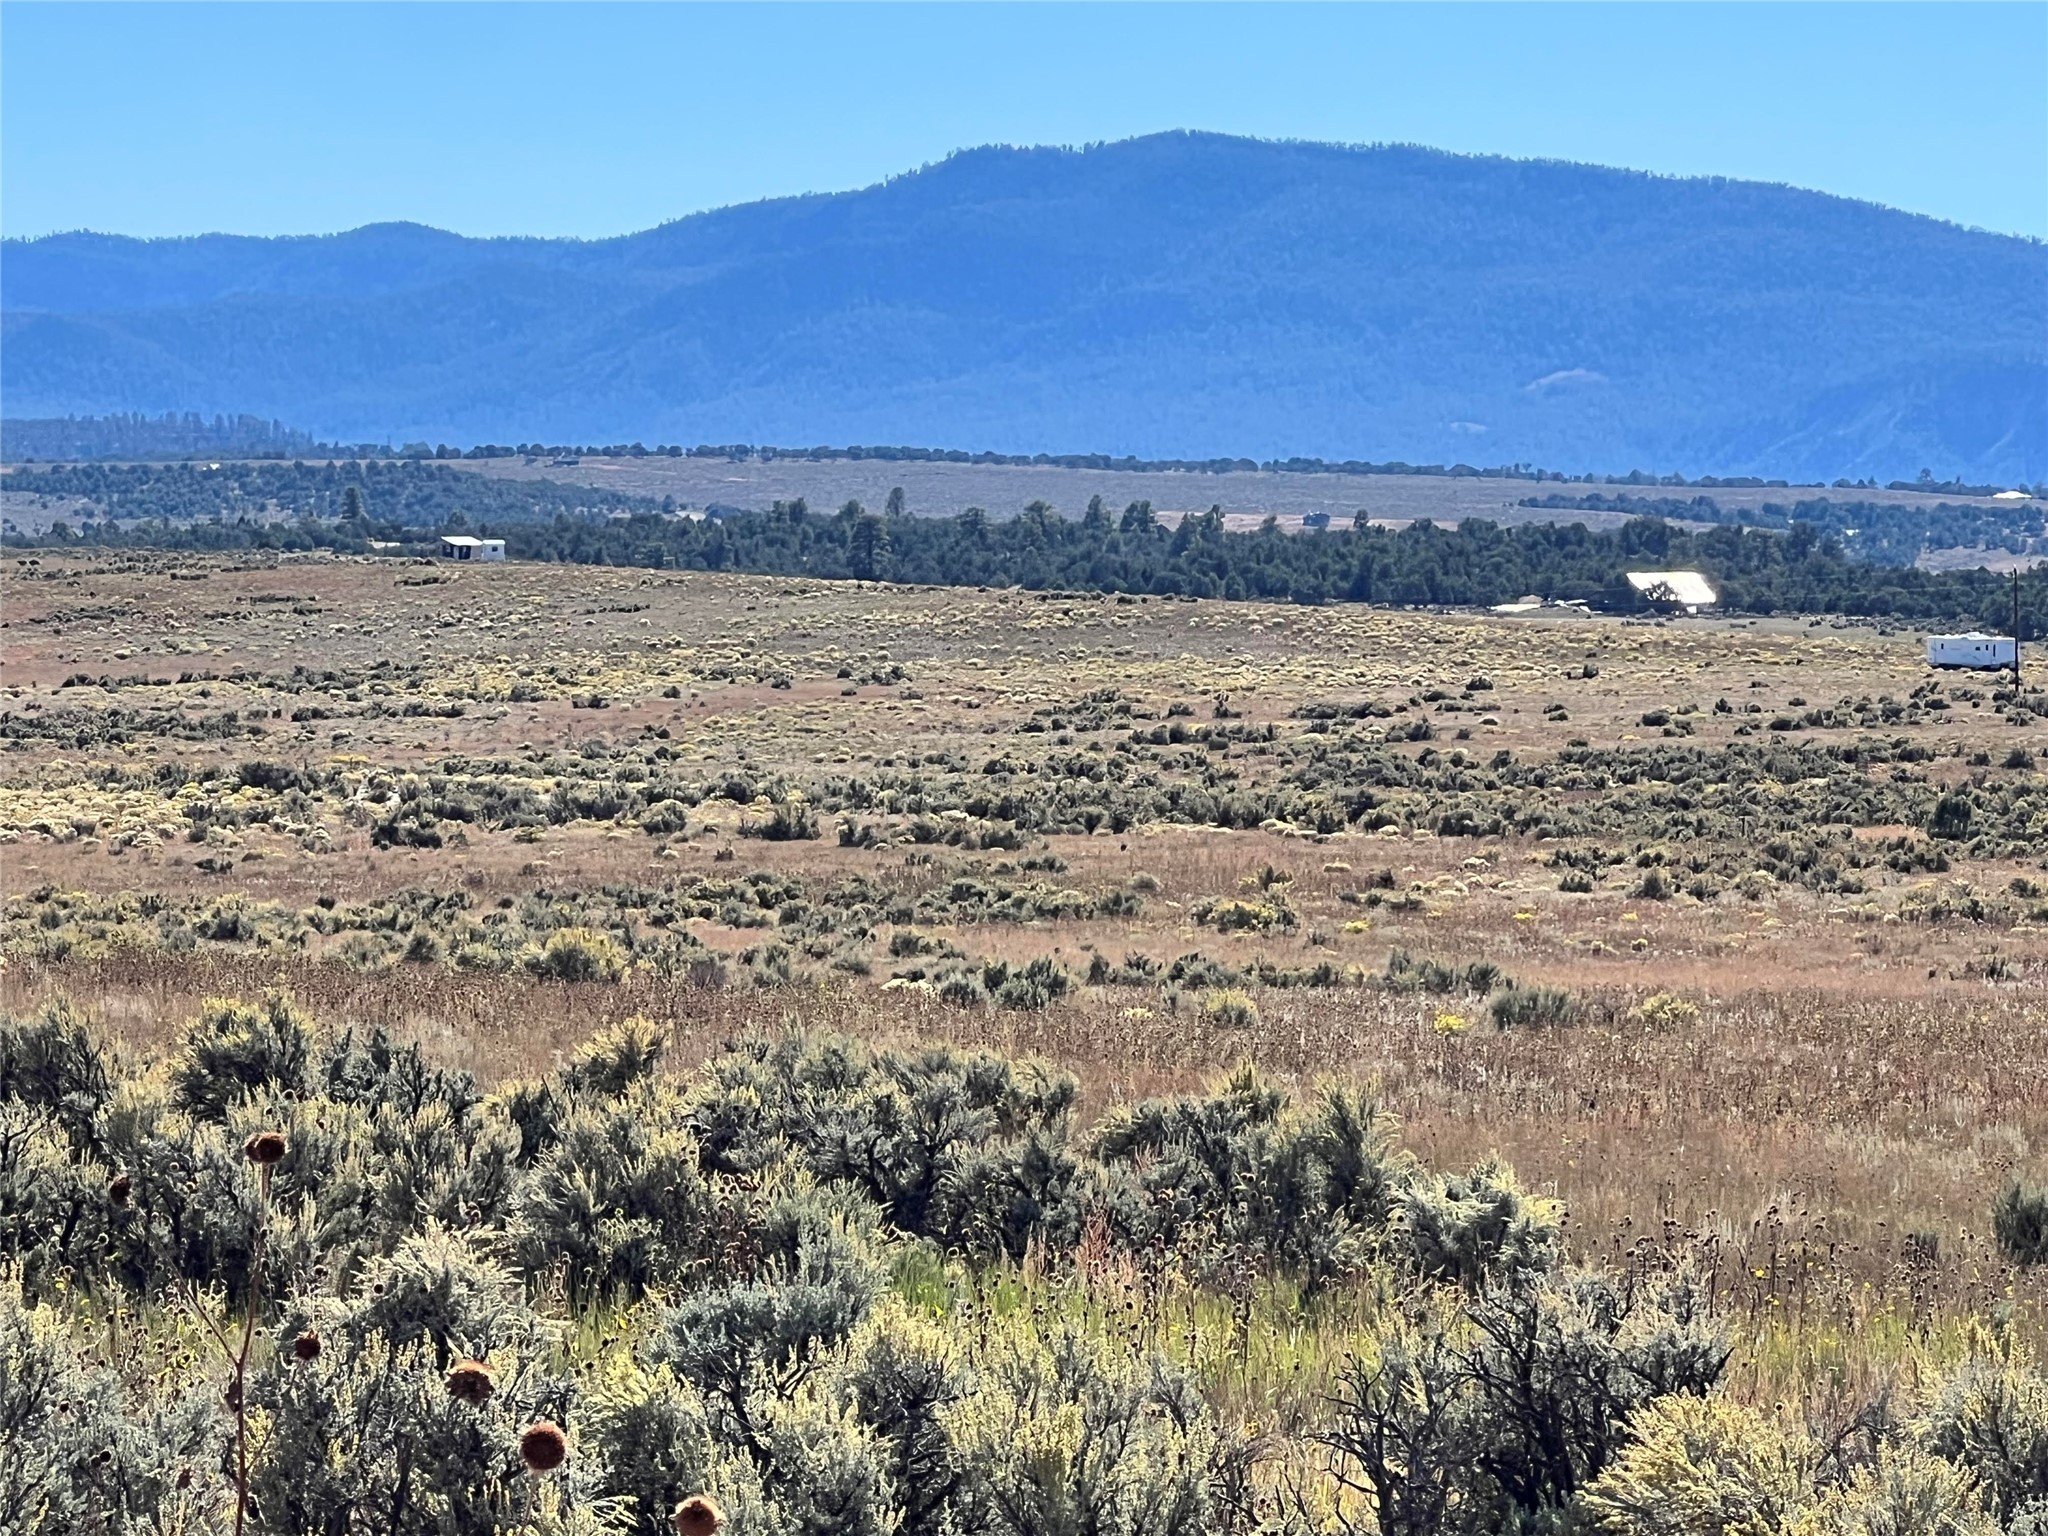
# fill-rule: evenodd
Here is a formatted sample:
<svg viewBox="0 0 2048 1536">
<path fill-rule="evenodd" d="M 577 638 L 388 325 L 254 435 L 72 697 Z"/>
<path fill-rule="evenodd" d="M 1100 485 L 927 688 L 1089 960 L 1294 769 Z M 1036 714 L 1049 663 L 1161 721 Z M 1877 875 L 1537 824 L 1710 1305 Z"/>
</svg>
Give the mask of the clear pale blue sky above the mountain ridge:
<svg viewBox="0 0 2048 1536">
<path fill-rule="evenodd" d="M 0 4 L 8 236 L 608 236 L 1167 127 L 2048 238 L 2048 4 Z"/>
</svg>

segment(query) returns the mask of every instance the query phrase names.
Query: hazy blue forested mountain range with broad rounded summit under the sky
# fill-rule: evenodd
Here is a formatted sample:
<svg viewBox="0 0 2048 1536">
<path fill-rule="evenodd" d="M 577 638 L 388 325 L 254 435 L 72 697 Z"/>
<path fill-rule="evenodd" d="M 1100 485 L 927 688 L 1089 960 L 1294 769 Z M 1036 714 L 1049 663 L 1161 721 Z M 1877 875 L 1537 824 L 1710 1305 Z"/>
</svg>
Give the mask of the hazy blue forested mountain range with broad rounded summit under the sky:
<svg viewBox="0 0 2048 1536">
<path fill-rule="evenodd" d="M 618 240 L 0 252 L 8 416 L 2048 479 L 2048 246 L 1731 180 L 1163 133 Z"/>
</svg>

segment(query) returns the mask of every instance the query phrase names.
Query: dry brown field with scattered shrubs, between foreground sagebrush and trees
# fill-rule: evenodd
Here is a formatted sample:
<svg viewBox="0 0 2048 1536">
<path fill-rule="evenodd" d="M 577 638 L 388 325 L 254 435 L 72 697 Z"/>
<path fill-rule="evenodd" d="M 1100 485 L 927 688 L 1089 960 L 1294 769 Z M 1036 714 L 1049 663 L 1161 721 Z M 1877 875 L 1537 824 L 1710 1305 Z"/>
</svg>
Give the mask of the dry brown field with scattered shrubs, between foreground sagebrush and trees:
<svg viewBox="0 0 2048 1536">
<path fill-rule="evenodd" d="M 1583 1253 L 1698 1251 L 1743 1391 L 2040 1333 L 1989 1206 L 2048 1171 L 2048 709 L 1905 639 L 354 559 L 0 596 L 10 1012 L 150 1049 L 281 983 L 485 1079 L 823 1026 L 1092 1112 L 1253 1059 L 1378 1079 Z"/>
</svg>

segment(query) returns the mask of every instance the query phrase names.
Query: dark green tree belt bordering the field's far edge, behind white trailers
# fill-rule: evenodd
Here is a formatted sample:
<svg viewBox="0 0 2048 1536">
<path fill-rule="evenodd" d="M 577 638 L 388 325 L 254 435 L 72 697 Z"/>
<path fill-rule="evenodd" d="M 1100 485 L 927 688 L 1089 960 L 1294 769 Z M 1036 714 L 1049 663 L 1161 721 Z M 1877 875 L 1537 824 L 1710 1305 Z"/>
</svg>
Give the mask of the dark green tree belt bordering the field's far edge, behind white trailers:
<svg viewBox="0 0 2048 1536">
<path fill-rule="evenodd" d="M 567 510 L 541 518 L 471 518 L 457 512 L 422 526 L 393 516 L 362 489 L 350 504 L 344 487 L 342 502 L 342 516 L 332 522 L 309 516 L 289 522 L 98 522 L 41 537 L 8 535 L 6 543 L 342 553 L 399 545 L 432 553 L 434 535 L 469 530 L 506 539 L 514 559 L 580 565 L 1298 604 L 1483 606 L 1540 596 L 1608 612 L 1647 608 L 1628 586 L 1632 569 L 1700 569 L 1731 612 L 1845 614 L 2001 633 L 2011 614 L 2009 584 L 1993 571 L 1872 565 L 1810 522 L 1794 522 L 1784 532 L 1688 530 L 1653 516 L 1610 530 L 1483 520 L 1454 528 L 1415 522 L 1395 530 L 1370 526 L 1360 514 L 1352 526 L 1290 535 L 1274 518 L 1257 530 L 1227 530 L 1219 506 L 1167 526 L 1149 502 L 1112 512 L 1096 498 L 1081 518 L 1063 518 L 1044 502 L 1032 502 L 1016 518 L 993 518 L 981 508 L 915 518 L 905 516 L 901 498 L 893 496 L 885 512 L 848 502 L 838 512 L 817 514 L 795 500 L 723 518 L 657 512 L 598 518 Z M 2038 604 L 2038 598 L 2028 602 Z"/>
</svg>

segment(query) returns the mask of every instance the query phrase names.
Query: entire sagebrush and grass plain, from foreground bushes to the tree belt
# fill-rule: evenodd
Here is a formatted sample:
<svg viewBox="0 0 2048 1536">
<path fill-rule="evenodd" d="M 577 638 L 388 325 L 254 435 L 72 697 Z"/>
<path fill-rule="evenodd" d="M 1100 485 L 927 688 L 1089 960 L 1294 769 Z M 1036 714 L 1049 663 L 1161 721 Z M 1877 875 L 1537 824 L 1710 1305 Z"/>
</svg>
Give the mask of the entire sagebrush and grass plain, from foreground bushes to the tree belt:
<svg viewBox="0 0 2048 1536">
<path fill-rule="evenodd" d="M 2048 1528 L 2048 694 L 25 553 L 0 1530 Z"/>
</svg>

